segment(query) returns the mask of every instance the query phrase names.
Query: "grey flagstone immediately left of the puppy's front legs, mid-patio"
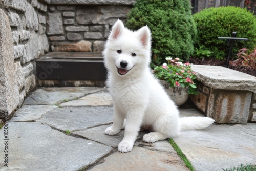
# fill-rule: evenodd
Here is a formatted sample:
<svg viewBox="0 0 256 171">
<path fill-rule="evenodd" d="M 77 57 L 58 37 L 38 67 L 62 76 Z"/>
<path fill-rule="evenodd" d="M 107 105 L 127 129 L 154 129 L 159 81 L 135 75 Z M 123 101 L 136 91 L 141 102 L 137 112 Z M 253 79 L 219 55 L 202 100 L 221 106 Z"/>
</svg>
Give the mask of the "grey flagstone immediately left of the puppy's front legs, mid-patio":
<svg viewBox="0 0 256 171">
<path fill-rule="evenodd" d="M 42 115 L 37 122 L 58 130 L 78 131 L 113 122 L 113 107 L 84 106 L 57 108 Z"/>
</svg>

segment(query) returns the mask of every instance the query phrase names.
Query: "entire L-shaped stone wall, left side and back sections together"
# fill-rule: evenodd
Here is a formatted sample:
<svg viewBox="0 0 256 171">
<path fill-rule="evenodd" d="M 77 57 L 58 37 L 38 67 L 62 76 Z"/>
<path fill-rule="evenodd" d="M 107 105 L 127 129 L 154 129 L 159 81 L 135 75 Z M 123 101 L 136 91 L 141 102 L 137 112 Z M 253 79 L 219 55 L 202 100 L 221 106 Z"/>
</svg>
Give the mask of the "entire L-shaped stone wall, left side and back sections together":
<svg viewBox="0 0 256 171">
<path fill-rule="evenodd" d="M 48 51 L 101 52 L 130 0 L 1 0 L 0 118 L 36 86 L 36 60 Z"/>
</svg>

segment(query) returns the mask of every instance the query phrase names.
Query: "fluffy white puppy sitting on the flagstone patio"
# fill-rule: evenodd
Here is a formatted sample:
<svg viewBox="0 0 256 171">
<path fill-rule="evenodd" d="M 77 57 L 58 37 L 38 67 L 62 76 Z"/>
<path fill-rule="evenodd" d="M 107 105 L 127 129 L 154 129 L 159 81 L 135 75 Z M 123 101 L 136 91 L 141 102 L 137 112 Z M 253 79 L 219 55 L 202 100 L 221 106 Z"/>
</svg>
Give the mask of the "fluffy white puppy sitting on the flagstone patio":
<svg viewBox="0 0 256 171">
<path fill-rule="evenodd" d="M 207 117 L 179 118 L 179 111 L 148 67 L 151 61 L 151 32 L 147 26 L 138 31 L 114 24 L 103 51 L 108 69 L 107 86 L 114 102 L 114 121 L 105 134 L 120 132 L 124 119 L 124 138 L 118 151 L 132 150 L 141 127 L 153 132 L 143 141 L 153 143 L 175 137 L 181 130 L 203 129 L 214 122 Z"/>
</svg>

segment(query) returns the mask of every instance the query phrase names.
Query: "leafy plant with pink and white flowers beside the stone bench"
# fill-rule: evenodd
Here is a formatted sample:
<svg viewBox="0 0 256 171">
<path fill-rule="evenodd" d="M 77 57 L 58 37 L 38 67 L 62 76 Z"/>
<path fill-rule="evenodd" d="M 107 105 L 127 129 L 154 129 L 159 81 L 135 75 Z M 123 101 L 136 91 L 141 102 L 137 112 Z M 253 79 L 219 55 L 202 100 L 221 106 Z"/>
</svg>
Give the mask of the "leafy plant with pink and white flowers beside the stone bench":
<svg viewBox="0 0 256 171">
<path fill-rule="evenodd" d="M 165 58 L 168 61 L 162 66 L 154 68 L 154 74 L 158 79 L 166 80 L 170 87 L 187 87 L 189 94 L 198 94 L 196 91 L 195 72 L 191 70 L 190 63 L 182 63 L 179 58 Z"/>
</svg>

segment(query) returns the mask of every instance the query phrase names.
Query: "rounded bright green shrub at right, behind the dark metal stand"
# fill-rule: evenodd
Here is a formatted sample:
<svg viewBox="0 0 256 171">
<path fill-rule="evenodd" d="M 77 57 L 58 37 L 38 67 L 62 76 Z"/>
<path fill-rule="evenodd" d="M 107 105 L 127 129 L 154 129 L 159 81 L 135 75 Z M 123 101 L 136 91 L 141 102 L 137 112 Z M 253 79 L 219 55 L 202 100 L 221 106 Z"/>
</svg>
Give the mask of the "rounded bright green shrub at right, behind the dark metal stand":
<svg viewBox="0 0 256 171">
<path fill-rule="evenodd" d="M 197 47 L 209 50 L 211 57 L 223 59 L 229 46 L 226 40 L 218 37 L 231 37 L 233 31 L 237 37 L 248 38 L 249 41 L 237 41 L 233 53 L 241 48 L 254 49 L 256 46 L 256 17 L 252 13 L 240 7 L 218 7 L 204 9 L 194 14 L 194 20 L 198 29 Z"/>
</svg>

